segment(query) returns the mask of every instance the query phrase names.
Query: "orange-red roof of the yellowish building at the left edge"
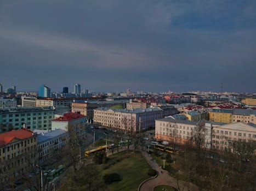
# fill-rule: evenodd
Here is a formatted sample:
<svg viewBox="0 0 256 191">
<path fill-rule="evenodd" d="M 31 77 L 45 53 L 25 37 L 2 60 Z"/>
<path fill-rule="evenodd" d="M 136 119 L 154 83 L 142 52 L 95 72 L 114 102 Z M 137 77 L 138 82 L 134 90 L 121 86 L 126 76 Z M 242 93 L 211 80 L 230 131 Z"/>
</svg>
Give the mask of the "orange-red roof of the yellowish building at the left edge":
<svg viewBox="0 0 256 191">
<path fill-rule="evenodd" d="M 27 129 L 12 130 L 10 132 L 0 134 L 0 146 L 7 145 L 14 138 L 27 139 L 33 136 L 33 132 Z"/>
</svg>

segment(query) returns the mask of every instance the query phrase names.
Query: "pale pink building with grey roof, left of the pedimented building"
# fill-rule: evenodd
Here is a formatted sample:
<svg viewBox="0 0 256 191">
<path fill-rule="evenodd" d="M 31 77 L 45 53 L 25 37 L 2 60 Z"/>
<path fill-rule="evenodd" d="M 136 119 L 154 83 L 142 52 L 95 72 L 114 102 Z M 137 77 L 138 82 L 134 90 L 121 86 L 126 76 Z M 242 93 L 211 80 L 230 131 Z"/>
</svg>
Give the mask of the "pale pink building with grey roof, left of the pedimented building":
<svg viewBox="0 0 256 191">
<path fill-rule="evenodd" d="M 173 117 L 161 118 L 156 120 L 155 138 L 175 141 L 182 145 L 191 140 L 196 126 L 195 121 L 175 120 Z"/>
</svg>

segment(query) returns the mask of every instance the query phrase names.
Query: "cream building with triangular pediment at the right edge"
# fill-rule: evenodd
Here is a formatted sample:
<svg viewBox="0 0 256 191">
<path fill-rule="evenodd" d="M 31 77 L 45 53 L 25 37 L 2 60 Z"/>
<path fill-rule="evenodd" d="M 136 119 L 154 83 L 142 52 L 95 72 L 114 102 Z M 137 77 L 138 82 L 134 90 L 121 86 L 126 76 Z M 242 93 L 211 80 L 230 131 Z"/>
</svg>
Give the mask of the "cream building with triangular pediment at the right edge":
<svg viewBox="0 0 256 191">
<path fill-rule="evenodd" d="M 235 152 L 233 142 L 251 142 L 256 144 L 256 126 L 243 122 L 224 124 L 212 128 L 212 148 Z"/>
</svg>

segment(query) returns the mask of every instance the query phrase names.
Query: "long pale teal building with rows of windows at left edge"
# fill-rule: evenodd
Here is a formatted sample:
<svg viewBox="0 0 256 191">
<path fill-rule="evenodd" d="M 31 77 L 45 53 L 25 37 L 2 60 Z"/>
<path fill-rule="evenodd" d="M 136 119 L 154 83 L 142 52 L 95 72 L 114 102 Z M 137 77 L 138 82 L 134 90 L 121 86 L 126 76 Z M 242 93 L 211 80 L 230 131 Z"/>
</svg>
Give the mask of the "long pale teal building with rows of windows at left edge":
<svg viewBox="0 0 256 191">
<path fill-rule="evenodd" d="M 20 129 L 51 129 L 54 118 L 53 107 L 0 109 L 0 132 Z"/>
</svg>

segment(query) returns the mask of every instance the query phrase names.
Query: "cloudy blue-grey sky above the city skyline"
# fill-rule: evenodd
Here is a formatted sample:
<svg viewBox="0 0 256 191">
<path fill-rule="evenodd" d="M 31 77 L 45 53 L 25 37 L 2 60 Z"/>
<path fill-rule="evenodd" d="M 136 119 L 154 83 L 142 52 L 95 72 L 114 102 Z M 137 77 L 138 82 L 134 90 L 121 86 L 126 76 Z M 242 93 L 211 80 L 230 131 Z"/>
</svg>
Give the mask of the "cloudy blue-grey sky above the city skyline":
<svg viewBox="0 0 256 191">
<path fill-rule="evenodd" d="M 0 0 L 0 83 L 256 92 L 256 1 Z"/>
</svg>

